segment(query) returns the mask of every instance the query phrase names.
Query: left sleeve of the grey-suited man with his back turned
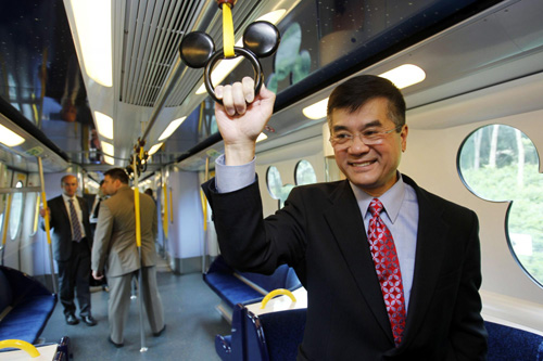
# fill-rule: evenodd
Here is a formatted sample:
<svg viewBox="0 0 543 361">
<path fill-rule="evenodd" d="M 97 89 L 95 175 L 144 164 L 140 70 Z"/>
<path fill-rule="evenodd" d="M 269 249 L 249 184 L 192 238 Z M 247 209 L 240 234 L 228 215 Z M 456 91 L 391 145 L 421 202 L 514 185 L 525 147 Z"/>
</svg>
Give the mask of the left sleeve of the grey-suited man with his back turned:
<svg viewBox="0 0 543 361">
<path fill-rule="evenodd" d="M 105 259 L 110 250 L 112 231 L 113 215 L 106 202 L 101 202 L 97 229 L 94 231 L 94 242 L 92 245 L 91 268 L 93 271 L 101 273 L 104 271 Z"/>
</svg>

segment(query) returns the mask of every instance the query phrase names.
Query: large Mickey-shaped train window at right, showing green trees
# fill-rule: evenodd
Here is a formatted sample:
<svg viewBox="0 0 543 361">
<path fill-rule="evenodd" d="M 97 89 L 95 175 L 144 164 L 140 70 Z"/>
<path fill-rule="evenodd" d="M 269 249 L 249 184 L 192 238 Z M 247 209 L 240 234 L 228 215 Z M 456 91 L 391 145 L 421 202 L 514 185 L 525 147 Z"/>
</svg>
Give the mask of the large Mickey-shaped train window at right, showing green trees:
<svg viewBox="0 0 543 361">
<path fill-rule="evenodd" d="M 505 224 L 509 249 L 525 272 L 543 286 L 543 175 L 532 141 L 509 126 L 479 128 L 460 146 L 458 169 L 477 196 L 512 202 Z"/>
</svg>

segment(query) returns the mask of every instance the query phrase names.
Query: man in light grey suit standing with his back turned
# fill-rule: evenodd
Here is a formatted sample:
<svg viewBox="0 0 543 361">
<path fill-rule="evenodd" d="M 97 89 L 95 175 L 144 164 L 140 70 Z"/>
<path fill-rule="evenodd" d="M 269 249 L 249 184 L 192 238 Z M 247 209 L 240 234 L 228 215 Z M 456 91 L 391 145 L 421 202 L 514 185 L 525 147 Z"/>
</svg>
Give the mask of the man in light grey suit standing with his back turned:
<svg viewBox="0 0 543 361">
<path fill-rule="evenodd" d="M 136 217 L 134 191 L 128 186 L 128 176 L 122 168 L 104 173 L 109 199 L 101 202 L 92 247 L 92 276 L 103 278 L 104 269 L 110 286 L 109 341 L 123 347 L 123 330 L 130 306 L 130 281 L 141 269 L 141 299 L 146 308 L 153 335 L 165 330 L 164 309 L 156 286 L 156 250 L 154 240 L 157 232 L 157 216 L 154 201 L 140 193 L 141 260 L 136 244 Z"/>
</svg>

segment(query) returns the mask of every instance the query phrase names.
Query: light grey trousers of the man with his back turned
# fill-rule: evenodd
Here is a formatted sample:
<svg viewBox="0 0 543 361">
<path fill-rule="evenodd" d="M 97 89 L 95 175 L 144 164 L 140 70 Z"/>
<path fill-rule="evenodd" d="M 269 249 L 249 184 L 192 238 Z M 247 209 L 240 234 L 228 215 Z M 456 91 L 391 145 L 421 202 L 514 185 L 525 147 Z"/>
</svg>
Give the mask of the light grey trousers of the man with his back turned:
<svg viewBox="0 0 543 361">
<path fill-rule="evenodd" d="M 110 336 L 114 343 L 122 344 L 123 331 L 128 320 L 130 308 L 130 284 L 132 278 L 138 278 L 139 271 L 119 276 L 108 276 L 110 286 L 110 300 L 108 320 L 110 323 Z M 164 327 L 164 308 L 161 295 L 156 286 L 156 267 L 143 267 L 141 269 L 142 285 L 139 287 L 139 301 L 143 301 L 143 308 L 151 326 L 156 333 Z"/>
</svg>

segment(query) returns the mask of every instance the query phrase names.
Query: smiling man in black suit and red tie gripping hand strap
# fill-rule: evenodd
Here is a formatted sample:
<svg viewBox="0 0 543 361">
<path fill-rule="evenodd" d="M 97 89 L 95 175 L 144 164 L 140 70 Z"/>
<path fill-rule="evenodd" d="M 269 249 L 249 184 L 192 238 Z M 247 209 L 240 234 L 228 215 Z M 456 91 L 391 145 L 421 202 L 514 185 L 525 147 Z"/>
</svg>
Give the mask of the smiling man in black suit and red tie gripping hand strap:
<svg viewBox="0 0 543 361">
<path fill-rule="evenodd" d="M 263 219 L 255 140 L 275 95 L 252 87 L 244 78 L 215 90 L 225 157 L 203 189 L 231 266 L 296 270 L 308 297 L 299 360 L 484 360 L 478 219 L 397 171 L 401 92 L 377 76 L 336 88 L 328 125 L 346 180 L 294 188 Z"/>
</svg>

